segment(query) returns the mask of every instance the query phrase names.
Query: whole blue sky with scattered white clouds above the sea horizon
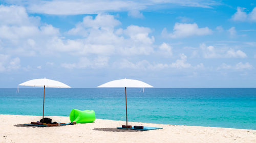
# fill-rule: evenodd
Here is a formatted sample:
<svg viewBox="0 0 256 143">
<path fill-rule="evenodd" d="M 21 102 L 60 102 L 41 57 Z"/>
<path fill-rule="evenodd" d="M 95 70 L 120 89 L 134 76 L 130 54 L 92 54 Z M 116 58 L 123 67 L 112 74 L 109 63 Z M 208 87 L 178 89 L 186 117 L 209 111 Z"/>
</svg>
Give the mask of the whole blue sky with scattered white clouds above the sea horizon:
<svg viewBox="0 0 256 143">
<path fill-rule="evenodd" d="M 255 61 L 255 1 L 0 1 L 0 88 L 255 88 Z"/>
</svg>

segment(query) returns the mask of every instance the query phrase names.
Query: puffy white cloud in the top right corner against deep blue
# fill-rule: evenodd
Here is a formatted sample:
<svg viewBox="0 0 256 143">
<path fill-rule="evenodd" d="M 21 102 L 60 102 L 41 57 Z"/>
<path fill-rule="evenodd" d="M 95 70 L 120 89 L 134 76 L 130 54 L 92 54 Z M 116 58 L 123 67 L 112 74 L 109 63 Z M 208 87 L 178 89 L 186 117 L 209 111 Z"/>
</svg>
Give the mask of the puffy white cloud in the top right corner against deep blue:
<svg viewBox="0 0 256 143">
<path fill-rule="evenodd" d="M 250 12 L 244 12 L 245 8 L 237 8 L 237 12 L 232 15 L 231 19 L 233 21 L 251 21 L 256 22 L 256 7 Z"/>
</svg>

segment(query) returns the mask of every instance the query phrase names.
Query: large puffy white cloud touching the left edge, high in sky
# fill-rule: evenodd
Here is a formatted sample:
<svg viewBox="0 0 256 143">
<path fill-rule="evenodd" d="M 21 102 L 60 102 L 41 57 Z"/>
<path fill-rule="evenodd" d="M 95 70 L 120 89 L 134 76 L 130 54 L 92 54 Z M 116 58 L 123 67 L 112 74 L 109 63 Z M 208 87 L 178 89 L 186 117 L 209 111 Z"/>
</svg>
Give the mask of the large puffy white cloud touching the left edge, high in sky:
<svg viewBox="0 0 256 143">
<path fill-rule="evenodd" d="M 40 18 L 28 16 L 23 7 L 1 5 L 0 21 L 2 53 L 35 56 L 48 51 L 48 41 L 60 35 L 58 28 L 40 25 Z"/>
</svg>

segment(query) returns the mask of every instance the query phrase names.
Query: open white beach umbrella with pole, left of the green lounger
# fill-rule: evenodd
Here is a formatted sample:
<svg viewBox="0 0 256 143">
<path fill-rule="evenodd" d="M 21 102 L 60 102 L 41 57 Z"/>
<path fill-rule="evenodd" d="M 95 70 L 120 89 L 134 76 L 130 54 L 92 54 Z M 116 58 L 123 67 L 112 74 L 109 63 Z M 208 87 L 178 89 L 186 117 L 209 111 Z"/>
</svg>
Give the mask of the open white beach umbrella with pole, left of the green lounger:
<svg viewBox="0 0 256 143">
<path fill-rule="evenodd" d="M 47 78 L 32 79 L 18 85 L 30 86 L 30 87 L 44 87 L 44 103 L 42 105 L 42 119 L 44 121 L 44 111 L 45 111 L 45 88 L 71 88 L 69 85 L 62 82 L 51 80 Z"/>
</svg>

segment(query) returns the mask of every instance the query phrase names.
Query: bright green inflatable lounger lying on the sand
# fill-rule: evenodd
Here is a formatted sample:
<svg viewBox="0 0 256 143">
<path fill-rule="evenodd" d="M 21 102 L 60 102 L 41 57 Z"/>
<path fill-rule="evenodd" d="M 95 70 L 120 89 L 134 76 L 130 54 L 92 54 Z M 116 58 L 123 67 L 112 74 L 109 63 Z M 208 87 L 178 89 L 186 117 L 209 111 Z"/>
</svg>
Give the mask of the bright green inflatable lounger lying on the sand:
<svg viewBox="0 0 256 143">
<path fill-rule="evenodd" d="M 72 109 L 69 118 L 71 123 L 92 123 L 95 121 L 95 111 Z"/>
</svg>

